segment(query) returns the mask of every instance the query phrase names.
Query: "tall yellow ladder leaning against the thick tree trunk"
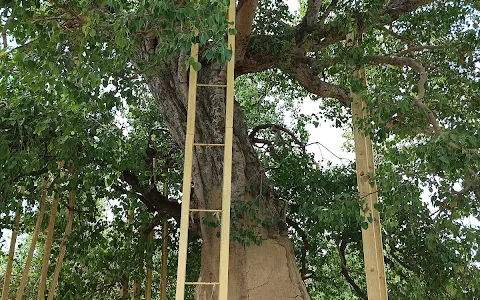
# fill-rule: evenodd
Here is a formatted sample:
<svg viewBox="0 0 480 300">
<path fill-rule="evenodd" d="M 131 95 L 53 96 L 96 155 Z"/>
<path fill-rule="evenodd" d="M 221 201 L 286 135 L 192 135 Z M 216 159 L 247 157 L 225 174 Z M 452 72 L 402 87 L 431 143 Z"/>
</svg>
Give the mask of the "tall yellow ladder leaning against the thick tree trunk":
<svg viewBox="0 0 480 300">
<path fill-rule="evenodd" d="M 177 292 L 176 300 L 184 300 L 185 285 L 213 285 L 218 287 L 219 300 L 227 300 L 228 297 L 228 256 L 230 240 L 230 200 L 232 186 L 232 140 L 233 140 L 233 87 L 235 71 L 235 36 L 232 35 L 235 28 L 235 0 L 230 0 L 228 8 L 228 46 L 232 51 L 232 58 L 227 63 L 227 84 L 210 85 L 197 83 L 197 72 L 190 67 L 189 90 L 188 90 L 188 110 L 187 110 L 187 132 L 185 137 L 185 163 L 183 169 L 183 189 L 182 189 L 182 218 L 180 221 L 180 243 L 178 249 L 178 270 L 177 270 Z M 192 45 L 191 56 L 198 61 L 198 44 Z M 197 87 L 226 88 L 226 108 L 225 108 L 225 137 L 223 144 L 209 144 L 195 142 L 195 112 Z M 190 208 L 190 191 L 192 182 L 192 165 L 194 147 L 224 147 L 223 161 L 223 189 L 222 189 L 222 208 L 206 209 Z M 220 213 L 220 264 L 218 282 L 186 282 L 187 268 L 187 245 L 188 245 L 188 223 L 191 212 Z"/>
</svg>

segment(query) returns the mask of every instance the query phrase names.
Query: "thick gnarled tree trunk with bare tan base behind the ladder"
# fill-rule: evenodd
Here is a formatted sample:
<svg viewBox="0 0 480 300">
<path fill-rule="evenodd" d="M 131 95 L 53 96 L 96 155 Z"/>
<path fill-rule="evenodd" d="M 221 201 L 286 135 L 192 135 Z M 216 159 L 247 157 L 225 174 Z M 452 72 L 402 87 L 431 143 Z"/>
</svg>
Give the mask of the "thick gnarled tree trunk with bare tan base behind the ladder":
<svg viewBox="0 0 480 300">
<path fill-rule="evenodd" d="M 188 75 L 185 57 L 179 57 L 147 82 L 160 108 L 162 118 L 174 140 L 184 147 Z M 225 83 L 226 71 L 220 65 L 204 65 L 199 83 Z M 199 87 L 195 141 L 222 143 L 224 134 L 225 93 L 223 88 Z M 293 247 L 286 234 L 284 204 L 275 197 L 265 172 L 247 135 L 244 117 L 236 104 L 234 115 L 232 207 L 256 203 L 253 209 L 232 215 L 235 228 L 251 228 L 261 234 L 260 246 L 231 242 L 229 300 L 310 299 L 295 263 Z M 194 154 L 192 208 L 219 208 L 222 190 L 223 149 L 197 148 Z M 253 216 L 258 214 L 257 220 Z M 198 215 L 199 220 L 212 215 Z M 271 220 L 264 228 L 258 219 Z M 201 280 L 218 280 L 219 241 L 214 228 L 199 222 L 202 238 Z M 197 299 L 217 299 L 212 287 L 199 287 Z"/>
</svg>

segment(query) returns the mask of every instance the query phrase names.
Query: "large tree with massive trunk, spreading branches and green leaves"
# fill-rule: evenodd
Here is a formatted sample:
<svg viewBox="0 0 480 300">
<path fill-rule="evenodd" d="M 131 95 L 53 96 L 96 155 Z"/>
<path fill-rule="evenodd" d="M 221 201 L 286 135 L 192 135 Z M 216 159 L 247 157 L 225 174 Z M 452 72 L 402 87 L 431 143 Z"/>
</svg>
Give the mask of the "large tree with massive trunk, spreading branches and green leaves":
<svg viewBox="0 0 480 300">
<path fill-rule="evenodd" d="M 200 67 L 189 57 L 192 42 L 200 43 L 199 82 L 225 83 L 227 6 L 224 0 L 3 1 L 3 209 L 14 210 L 8 199 L 18 197 L 15 185 L 38 193 L 35 179 L 51 174 L 60 189 L 83 189 L 79 216 L 99 209 L 95 199 L 128 195 L 153 218 L 139 223 L 178 220 L 178 203 L 152 184 L 151 158 L 175 169 L 172 153 L 184 147 L 187 67 Z M 480 208 L 478 9 L 466 0 L 311 0 L 291 13 L 281 1 L 238 1 L 230 300 L 340 298 L 345 289 L 336 294 L 327 287 L 344 283 L 321 267 L 335 261 L 338 274 L 365 297 L 361 280 L 352 277 L 352 268 L 361 270 L 356 260 L 366 220 L 358 216 L 350 168 L 324 170 L 312 162 L 304 131 L 312 116 L 294 114 L 290 129 L 298 131 L 292 131 L 275 115 L 281 103 L 310 96 L 319 99 L 320 117 L 342 126 L 351 90 L 367 101 L 371 120 L 359 126 L 378 149 L 378 209 L 385 213 L 393 295 L 478 296 L 472 264 L 478 232 L 464 222 Z M 347 41 L 350 32 L 362 40 Z M 367 88 L 352 76 L 362 65 Z M 199 88 L 198 142 L 222 141 L 224 99 L 220 88 Z M 76 178 L 60 174 L 60 160 Z M 197 149 L 194 207 L 218 208 L 222 168 L 221 149 Z M 432 189 L 431 211 L 420 201 L 422 185 Z M 102 225 L 95 217 L 80 219 L 91 236 Z M 202 214 L 191 221 L 205 281 L 218 277 L 217 222 Z M 78 257 L 85 253 L 72 247 Z M 313 280 L 312 297 L 304 280 Z M 196 291 L 197 299 L 212 295 L 212 287 Z"/>
</svg>

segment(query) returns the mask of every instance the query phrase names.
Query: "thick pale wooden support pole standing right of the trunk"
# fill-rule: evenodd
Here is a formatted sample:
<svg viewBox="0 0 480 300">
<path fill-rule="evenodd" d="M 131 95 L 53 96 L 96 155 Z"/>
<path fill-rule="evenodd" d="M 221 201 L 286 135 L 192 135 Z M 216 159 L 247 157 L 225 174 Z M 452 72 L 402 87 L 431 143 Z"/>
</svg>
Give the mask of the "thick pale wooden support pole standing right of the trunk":
<svg viewBox="0 0 480 300">
<path fill-rule="evenodd" d="M 347 36 L 354 44 L 353 33 Z M 354 72 L 366 85 L 365 68 Z M 378 202 L 377 187 L 375 182 L 375 166 L 373 147 L 370 137 L 359 130 L 359 121 L 367 118 L 365 102 L 361 95 L 352 92 L 352 117 L 354 127 L 354 143 L 357 168 L 357 183 L 360 199 L 365 201 L 361 214 L 365 220 L 371 220 L 367 229 L 362 229 L 363 255 L 367 277 L 367 295 L 369 300 L 387 300 L 387 285 L 385 279 L 385 264 L 383 259 L 383 246 L 380 229 L 380 215 L 375 209 Z"/>
</svg>

